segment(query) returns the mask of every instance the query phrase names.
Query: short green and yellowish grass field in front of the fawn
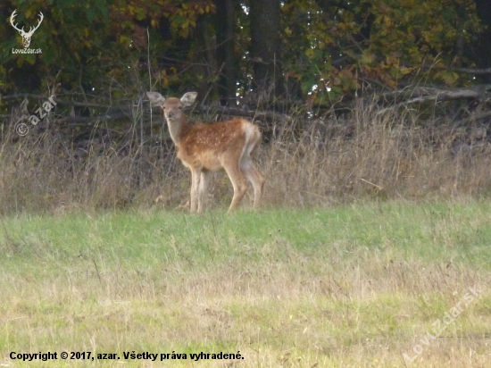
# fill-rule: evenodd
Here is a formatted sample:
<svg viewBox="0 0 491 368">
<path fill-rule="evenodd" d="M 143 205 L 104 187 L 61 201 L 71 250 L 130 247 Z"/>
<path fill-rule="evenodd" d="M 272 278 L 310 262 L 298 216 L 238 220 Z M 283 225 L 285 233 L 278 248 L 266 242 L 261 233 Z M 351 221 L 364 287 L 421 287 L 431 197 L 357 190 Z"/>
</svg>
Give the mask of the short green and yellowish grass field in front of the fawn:
<svg viewBox="0 0 491 368">
<path fill-rule="evenodd" d="M 3 218 L 0 251 L 0 366 L 491 361 L 489 201 L 24 214 Z M 48 351 L 58 359 L 11 359 Z"/>
</svg>

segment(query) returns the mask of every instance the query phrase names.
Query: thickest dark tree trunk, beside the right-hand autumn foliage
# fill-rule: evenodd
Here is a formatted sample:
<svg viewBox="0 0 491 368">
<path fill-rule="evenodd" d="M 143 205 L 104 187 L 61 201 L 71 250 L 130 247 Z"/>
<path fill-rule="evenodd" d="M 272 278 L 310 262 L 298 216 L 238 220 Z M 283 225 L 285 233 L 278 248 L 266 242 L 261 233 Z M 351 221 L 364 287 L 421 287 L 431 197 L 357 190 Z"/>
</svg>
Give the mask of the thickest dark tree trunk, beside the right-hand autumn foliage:
<svg viewBox="0 0 491 368">
<path fill-rule="evenodd" d="M 251 0 L 251 61 L 253 89 L 260 96 L 273 100 L 284 92 L 280 65 L 280 2 Z"/>
</svg>

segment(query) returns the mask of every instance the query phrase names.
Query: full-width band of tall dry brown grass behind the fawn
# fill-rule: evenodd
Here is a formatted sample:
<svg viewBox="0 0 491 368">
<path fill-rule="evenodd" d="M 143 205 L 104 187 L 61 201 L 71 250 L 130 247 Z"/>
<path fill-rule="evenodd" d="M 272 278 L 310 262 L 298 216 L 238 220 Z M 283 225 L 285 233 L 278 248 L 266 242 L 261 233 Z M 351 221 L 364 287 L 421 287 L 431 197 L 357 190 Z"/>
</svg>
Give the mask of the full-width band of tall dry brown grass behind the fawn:
<svg viewBox="0 0 491 368">
<path fill-rule="evenodd" d="M 122 138 L 95 129 L 82 142 L 55 127 L 18 137 L 14 124 L 4 124 L 0 213 L 186 203 L 190 175 L 175 157 L 166 127 L 142 139 L 137 123 L 132 121 Z M 277 122 L 275 134 L 256 153 L 267 175 L 263 205 L 487 196 L 491 147 L 486 130 L 478 131 L 362 101 L 342 118 L 298 114 Z M 217 175 L 213 181 L 211 202 L 226 208 L 229 180 Z"/>
</svg>

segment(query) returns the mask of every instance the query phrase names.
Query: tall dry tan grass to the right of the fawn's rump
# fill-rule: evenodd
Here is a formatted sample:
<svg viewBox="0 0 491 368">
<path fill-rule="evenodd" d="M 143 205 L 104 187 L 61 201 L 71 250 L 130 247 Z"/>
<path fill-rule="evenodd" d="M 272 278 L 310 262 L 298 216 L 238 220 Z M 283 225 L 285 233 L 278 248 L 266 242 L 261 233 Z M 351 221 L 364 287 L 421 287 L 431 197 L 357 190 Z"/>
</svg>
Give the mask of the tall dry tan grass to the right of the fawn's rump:
<svg viewBox="0 0 491 368">
<path fill-rule="evenodd" d="M 272 203 L 315 205 L 486 196 L 490 153 L 482 128 L 361 102 L 345 119 L 312 121 L 299 138 L 276 140 L 262 155 L 270 157 Z"/>
</svg>

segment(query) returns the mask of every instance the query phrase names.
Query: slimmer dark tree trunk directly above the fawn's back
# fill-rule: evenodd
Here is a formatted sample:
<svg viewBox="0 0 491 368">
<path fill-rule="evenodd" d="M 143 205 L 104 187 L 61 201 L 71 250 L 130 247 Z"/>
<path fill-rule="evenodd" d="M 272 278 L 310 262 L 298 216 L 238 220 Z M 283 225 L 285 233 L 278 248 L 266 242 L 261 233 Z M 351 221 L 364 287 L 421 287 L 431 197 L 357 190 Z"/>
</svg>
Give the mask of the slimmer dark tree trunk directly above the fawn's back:
<svg viewBox="0 0 491 368">
<path fill-rule="evenodd" d="M 216 0 L 217 61 L 220 71 L 219 94 L 221 105 L 235 105 L 237 91 L 237 61 L 234 53 L 236 1 Z"/>
</svg>

